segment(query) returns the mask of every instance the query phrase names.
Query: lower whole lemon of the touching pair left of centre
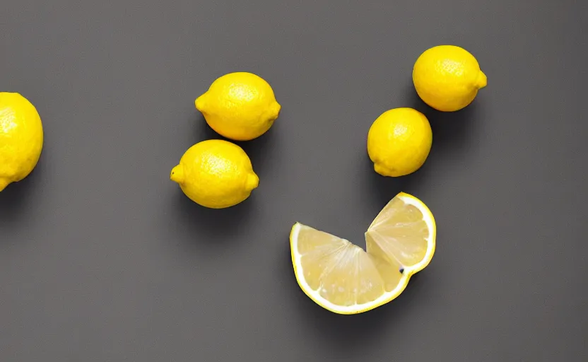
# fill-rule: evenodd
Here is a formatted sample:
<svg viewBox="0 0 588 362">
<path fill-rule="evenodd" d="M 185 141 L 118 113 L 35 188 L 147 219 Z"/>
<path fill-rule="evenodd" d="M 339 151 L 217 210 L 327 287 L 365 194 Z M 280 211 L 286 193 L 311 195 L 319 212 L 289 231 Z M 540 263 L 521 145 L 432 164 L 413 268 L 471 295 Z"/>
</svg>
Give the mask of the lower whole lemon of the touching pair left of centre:
<svg viewBox="0 0 588 362">
<path fill-rule="evenodd" d="M 188 148 L 170 178 L 196 204 L 212 209 L 239 204 L 259 184 L 243 148 L 220 139 Z"/>
</svg>

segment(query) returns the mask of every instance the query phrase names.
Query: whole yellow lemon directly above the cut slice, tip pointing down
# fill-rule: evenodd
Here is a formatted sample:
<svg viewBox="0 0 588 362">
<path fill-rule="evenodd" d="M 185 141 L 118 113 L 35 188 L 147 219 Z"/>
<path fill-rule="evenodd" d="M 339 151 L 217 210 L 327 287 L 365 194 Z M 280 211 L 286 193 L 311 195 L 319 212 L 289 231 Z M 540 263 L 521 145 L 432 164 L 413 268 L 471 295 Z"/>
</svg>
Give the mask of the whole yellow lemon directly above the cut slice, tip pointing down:
<svg viewBox="0 0 588 362">
<path fill-rule="evenodd" d="M 412 108 L 384 112 L 367 133 L 367 154 L 374 170 L 383 176 L 404 176 L 425 163 L 433 132 L 423 113 Z"/>
</svg>

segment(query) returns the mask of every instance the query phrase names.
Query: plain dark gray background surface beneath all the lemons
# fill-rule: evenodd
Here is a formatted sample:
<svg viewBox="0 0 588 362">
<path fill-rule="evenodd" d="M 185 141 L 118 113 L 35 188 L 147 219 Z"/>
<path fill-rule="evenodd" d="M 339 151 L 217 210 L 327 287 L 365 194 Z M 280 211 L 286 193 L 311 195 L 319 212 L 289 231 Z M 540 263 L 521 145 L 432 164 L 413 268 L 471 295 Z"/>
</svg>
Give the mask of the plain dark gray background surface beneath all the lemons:
<svg viewBox="0 0 588 362">
<path fill-rule="evenodd" d="M 0 88 L 37 107 L 45 148 L 0 194 L 0 361 L 587 361 L 587 5 L 318 3 L 2 3 Z M 488 75 L 461 112 L 413 90 L 440 44 Z M 240 143 L 259 188 L 209 210 L 169 173 L 218 138 L 194 99 L 232 71 L 266 78 L 283 111 Z M 406 106 L 433 149 L 380 177 L 367 130 Z M 363 246 L 400 191 L 435 214 L 430 266 L 369 313 L 315 305 L 290 227 Z"/>
</svg>

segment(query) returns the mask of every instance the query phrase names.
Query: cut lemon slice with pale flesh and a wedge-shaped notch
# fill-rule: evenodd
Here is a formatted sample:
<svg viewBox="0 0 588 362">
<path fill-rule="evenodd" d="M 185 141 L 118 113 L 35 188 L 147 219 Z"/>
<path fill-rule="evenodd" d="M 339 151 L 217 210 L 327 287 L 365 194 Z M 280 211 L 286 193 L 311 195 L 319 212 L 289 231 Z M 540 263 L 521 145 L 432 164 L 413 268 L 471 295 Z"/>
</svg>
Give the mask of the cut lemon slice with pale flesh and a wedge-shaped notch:
<svg viewBox="0 0 588 362">
<path fill-rule="evenodd" d="M 339 314 L 367 312 L 404 291 L 435 252 L 435 219 L 421 200 L 401 192 L 365 233 L 366 251 L 348 240 L 295 223 L 294 274 L 302 291 Z"/>
</svg>

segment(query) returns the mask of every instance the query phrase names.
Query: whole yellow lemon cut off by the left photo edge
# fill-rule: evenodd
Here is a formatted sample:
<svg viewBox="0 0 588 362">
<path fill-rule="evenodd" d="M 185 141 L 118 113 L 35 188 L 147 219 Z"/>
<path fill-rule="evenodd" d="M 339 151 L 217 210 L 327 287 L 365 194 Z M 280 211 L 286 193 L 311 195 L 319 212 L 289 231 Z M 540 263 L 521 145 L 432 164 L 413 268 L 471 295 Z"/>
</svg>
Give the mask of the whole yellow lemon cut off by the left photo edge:
<svg viewBox="0 0 588 362">
<path fill-rule="evenodd" d="M 0 191 L 27 177 L 41 156 L 39 113 L 18 93 L 0 93 Z"/>
</svg>

